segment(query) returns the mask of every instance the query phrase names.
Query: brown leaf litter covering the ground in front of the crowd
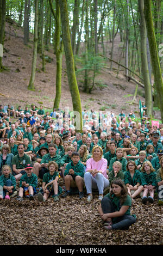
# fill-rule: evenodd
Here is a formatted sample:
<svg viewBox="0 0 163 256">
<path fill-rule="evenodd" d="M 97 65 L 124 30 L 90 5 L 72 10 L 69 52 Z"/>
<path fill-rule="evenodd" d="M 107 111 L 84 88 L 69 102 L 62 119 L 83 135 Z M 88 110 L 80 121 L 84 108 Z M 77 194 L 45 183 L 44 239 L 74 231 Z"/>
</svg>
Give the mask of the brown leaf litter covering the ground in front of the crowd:
<svg viewBox="0 0 163 256">
<path fill-rule="evenodd" d="M 104 230 L 98 195 L 91 203 L 78 194 L 46 202 L 16 198 L 0 202 L 0 245 L 163 245 L 162 206 L 157 199 L 143 205 L 132 201 L 137 220 L 129 230 Z"/>
</svg>

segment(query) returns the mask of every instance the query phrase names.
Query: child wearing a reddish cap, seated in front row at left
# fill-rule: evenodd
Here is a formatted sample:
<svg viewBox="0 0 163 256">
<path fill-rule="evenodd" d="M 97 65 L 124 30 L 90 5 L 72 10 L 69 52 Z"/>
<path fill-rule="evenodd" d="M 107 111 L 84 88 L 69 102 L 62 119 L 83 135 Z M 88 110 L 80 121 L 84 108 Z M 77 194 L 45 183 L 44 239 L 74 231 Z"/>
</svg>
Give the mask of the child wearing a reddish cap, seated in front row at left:
<svg viewBox="0 0 163 256">
<path fill-rule="evenodd" d="M 37 187 L 37 175 L 33 173 L 33 165 L 27 164 L 25 168 L 26 174 L 22 175 L 20 179 L 20 188 L 18 192 L 17 200 L 23 200 L 23 194 L 29 193 L 29 200 L 34 200 L 34 194 L 36 194 Z"/>
</svg>

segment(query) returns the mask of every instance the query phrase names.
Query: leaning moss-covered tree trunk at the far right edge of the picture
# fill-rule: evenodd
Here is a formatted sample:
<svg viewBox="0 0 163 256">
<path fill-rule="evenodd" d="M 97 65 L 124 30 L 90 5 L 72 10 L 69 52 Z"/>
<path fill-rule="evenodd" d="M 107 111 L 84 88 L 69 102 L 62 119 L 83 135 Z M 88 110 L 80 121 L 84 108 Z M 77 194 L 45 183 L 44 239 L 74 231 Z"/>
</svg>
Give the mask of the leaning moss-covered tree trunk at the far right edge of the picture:
<svg viewBox="0 0 163 256">
<path fill-rule="evenodd" d="M 154 83 L 156 92 L 159 95 L 160 102 L 160 111 L 161 111 L 161 120 L 163 122 L 163 82 L 162 82 L 162 74 L 158 56 L 158 47 L 156 45 L 154 27 L 153 27 L 153 18 L 152 18 L 152 2 L 151 0 L 144 0 L 145 3 L 145 20 L 147 27 L 147 35 L 149 41 L 149 49 L 151 52 L 151 61 L 152 61 L 152 69 L 154 75 Z"/>
</svg>

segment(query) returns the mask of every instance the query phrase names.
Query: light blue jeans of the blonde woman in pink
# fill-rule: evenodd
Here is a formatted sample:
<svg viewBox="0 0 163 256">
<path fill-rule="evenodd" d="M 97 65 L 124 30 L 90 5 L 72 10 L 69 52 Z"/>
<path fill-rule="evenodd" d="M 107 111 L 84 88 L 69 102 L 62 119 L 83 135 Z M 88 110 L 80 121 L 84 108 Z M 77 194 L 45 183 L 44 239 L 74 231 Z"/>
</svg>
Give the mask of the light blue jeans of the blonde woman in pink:
<svg viewBox="0 0 163 256">
<path fill-rule="evenodd" d="M 109 180 L 102 173 L 97 173 L 95 177 L 91 173 L 84 174 L 84 182 L 87 194 L 92 193 L 92 188 L 98 188 L 99 194 L 103 194 L 104 188 L 109 186 Z"/>
</svg>

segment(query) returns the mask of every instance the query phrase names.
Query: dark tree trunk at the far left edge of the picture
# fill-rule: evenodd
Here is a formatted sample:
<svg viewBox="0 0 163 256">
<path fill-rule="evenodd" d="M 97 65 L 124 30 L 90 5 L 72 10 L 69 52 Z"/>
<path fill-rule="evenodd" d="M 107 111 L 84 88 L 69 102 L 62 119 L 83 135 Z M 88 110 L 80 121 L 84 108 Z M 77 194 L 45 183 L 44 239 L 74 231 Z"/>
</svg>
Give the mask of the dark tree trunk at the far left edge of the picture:
<svg viewBox="0 0 163 256">
<path fill-rule="evenodd" d="M 6 13 L 6 0 L 2 0 L 0 2 L 0 44 L 2 46 L 4 45 L 5 13 Z M 3 47 L 1 50 L 3 51 Z M 4 67 L 2 65 L 2 56 L 0 54 L 0 72 L 2 72 L 3 70 L 4 70 Z"/>
</svg>

